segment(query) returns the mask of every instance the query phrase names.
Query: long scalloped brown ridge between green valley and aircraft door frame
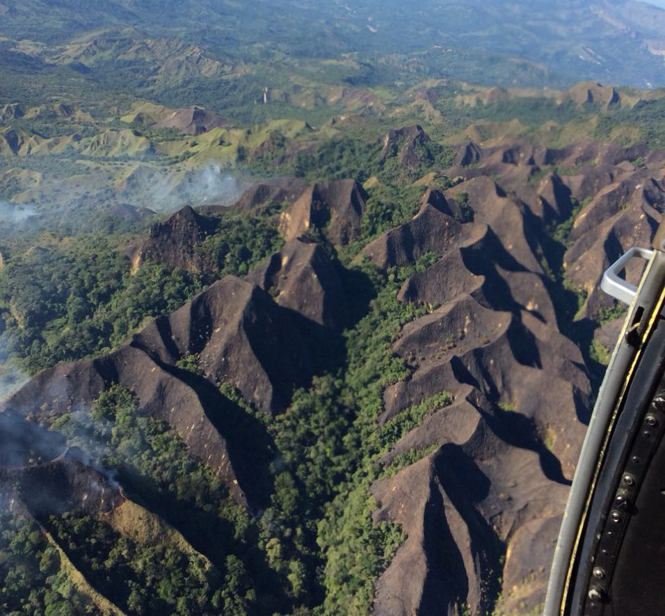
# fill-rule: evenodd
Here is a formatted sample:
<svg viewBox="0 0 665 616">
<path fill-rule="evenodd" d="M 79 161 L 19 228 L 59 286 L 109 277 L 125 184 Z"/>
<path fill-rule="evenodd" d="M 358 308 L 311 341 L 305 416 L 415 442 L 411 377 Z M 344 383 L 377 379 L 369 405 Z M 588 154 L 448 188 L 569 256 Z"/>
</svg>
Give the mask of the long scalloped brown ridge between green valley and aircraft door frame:
<svg viewBox="0 0 665 616">
<path fill-rule="evenodd" d="M 522 561 L 511 555 L 522 554 L 524 544 L 534 554 L 550 553 L 584 435 L 575 410 L 588 408 L 591 388 L 582 355 L 559 333 L 542 268 L 525 238 L 525 227 L 533 224 L 524 220 L 529 209 L 488 178 L 451 191 L 460 189 L 474 222 L 453 220 L 455 225 L 441 227 L 435 220 L 452 219 L 436 209 L 432 221 L 418 226 L 421 210 L 374 242 L 393 246 L 378 253 L 383 266 L 415 261 L 413 236 L 443 255 L 400 291 L 403 301 L 440 307 L 405 325 L 395 341 L 394 352 L 414 372 L 386 389 L 381 421 L 442 390 L 456 400 L 383 457 L 389 464 L 400 454 L 435 448 L 373 487 L 378 518 L 402 524 L 409 537 L 377 585 L 374 609 L 382 616 L 439 613 L 442 601 L 448 610 L 459 603 L 472 613 L 488 608 L 483 585 L 497 566 L 497 542 L 507 544 L 504 576 L 514 585 L 504 607 L 538 606 L 547 558 Z M 373 245 L 366 250 L 377 254 Z M 445 462 L 439 462 L 442 452 L 448 452 Z M 477 496 L 469 485 L 475 476 Z M 550 532 L 540 533 L 543 525 Z"/>
</svg>

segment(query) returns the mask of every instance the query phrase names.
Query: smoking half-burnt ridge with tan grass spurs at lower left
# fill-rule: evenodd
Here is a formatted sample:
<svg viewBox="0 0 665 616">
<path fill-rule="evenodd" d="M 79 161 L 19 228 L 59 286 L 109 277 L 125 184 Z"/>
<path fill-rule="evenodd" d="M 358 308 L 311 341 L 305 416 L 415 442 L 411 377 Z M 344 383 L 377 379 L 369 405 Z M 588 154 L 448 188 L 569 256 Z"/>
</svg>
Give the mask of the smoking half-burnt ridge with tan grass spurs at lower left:
<svg viewBox="0 0 665 616">
<path fill-rule="evenodd" d="M 32 446 L 40 440 L 36 435 L 33 437 Z M 168 553 L 171 558 L 177 554 L 181 563 L 189 562 L 209 580 L 220 575 L 215 565 L 182 533 L 152 510 L 128 498 L 122 487 L 108 473 L 91 464 L 88 455 L 78 447 L 67 448 L 53 460 L 0 467 L 0 505 L 17 519 L 36 523 L 35 529 L 53 549 L 51 558 L 58 561 L 59 575 L 71 585 L 69 592 L 77 592 L 77 603 L 86 605 L 86 613 L 102 616 L 132 613 L 122 600 L 123 594 L 126 597 L 128 592 L 125 587 L 131 587 L 131 581 L 128 577 L 115 578 L 111 583 L 116 590 L 122 590 L 109 592 L 108 578 L 99 576 L 98 563 L 94 562 L 94 556 L 90 559 L 90 551 L 94 553 L 94 549 L 90 550 L 90 546 L 86 549 L 72 541 L 72 535 L 67 536 L 67 530 L 73 530 L 67 526 L 71 520 L 83 521 L 97 533 L 111 533 L 126 540 L 126 550 L 141 546 Z M 63 528 L 67 529 L 64 535 Z M 74 530 L 73 536 L 77 533 L 80 530 Z M 77 539 L 80 540 L 80 536 Z M 86 540 L 90 539 L 86 537 Z M 96 545 L 99 538 L 92 541 Z M 23 563 L 19 563 L 21 566 Z M 120 599 L 118 604 L 109 599 L 113 595 L 115 601 Z"/>
</svg>

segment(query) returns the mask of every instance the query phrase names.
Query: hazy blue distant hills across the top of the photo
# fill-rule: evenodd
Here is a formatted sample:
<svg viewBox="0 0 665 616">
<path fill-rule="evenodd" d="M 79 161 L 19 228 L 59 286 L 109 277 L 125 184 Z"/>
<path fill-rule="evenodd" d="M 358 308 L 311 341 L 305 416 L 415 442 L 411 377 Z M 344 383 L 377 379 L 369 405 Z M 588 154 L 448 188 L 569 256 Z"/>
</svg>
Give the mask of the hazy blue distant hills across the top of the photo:
<svg viewBox="0 0 665 616">
<path fill-rule="evenodd" d="M 212 56 L 208 62 L 266 59 L 277 50 L 319 58 L 403 54 L 410 71 L 476 83 L 665 85 L 665 11 L 636 0 L 425 0 L 408 9 L 395 0 L 259 0 L 251 10 L 214 0 L 109 0 L 93 8 L 77 0 L 27 0 L 0 3 L 0 15 L 0 34 L 22 40 L 18 51 L 28 54 L 93 30 L 134 26 L 150 35 L 177 30 Z M 30 51 L 25 40 L 38 44 Z M 125 60 L 144 55 L 134 48 Z"/>
</svg>

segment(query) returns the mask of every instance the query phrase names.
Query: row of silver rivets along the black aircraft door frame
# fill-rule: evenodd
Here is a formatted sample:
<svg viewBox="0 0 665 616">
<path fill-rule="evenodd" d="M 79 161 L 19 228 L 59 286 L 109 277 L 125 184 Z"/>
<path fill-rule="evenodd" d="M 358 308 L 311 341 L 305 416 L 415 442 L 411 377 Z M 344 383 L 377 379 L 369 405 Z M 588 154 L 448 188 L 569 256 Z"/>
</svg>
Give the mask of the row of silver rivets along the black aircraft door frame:
<svg viewBox="0 0 665 616">
<path fill-rule="evenodd" d="M 659 430 L 656 430 L 659 428 Z M 614 496 L 608 519 L 598 534 L 598 547 L 595 554 L 595 567 L 591 572 L 591 581 L 586 597 L 586 616 L 602 614 L 608 599 L 607 583 L 611 578 L 620 549 L 625 527 L 630 519 L 631 503 L 646 471 L 644 461 L 648 461 L 662 436 L 665 427 L 665 394 L 658 394 L 652 400 L 650 412 L 643 419 L 641 431 L 637 435 L 628 457 L 623 476 Z"/>
</svg>

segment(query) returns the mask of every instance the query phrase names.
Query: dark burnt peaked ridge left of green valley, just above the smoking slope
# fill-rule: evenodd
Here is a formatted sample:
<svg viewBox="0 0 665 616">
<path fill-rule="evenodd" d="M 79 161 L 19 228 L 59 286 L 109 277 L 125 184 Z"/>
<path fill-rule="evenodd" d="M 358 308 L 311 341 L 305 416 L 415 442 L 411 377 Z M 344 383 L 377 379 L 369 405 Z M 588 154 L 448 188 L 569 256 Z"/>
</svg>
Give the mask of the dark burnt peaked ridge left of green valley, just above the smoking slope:
<svg viewBox="0 0 665 616">
<path fill-rule="evenodd" d="M 206 378 L 177 368 L 190 354 Z M 257 286 L 227 276 L 109 355 L 42 371 L 3 406 L 43 420 L 88 410 L 102 391 L 122 383 L 143 412 L 178 430 L 191 453 L 246 502 L 252 469 L 241 443 L 225 437 L 233 418 L 220 412 L 229 403 L 216 384 L 230 382 L 259 410 L 279 412 L 291 389 L 307 383 L 309 357 L 286 311 Z"/>
</svg>

